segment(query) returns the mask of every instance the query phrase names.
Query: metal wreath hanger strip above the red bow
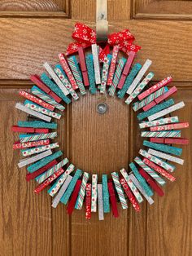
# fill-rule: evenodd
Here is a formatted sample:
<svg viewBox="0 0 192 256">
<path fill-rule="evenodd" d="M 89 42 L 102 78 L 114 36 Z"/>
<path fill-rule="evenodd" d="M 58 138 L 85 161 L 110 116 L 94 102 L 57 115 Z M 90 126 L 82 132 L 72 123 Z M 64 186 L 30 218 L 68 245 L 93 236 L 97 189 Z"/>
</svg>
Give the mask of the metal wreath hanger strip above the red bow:
<svg viewBox="0 0 192 256">
<path fill-rule="evenodd" d="M 96 7 L 96 38 L 97 42 L 107 42 L 107 0 L 97 0 Z"/>
</svg>

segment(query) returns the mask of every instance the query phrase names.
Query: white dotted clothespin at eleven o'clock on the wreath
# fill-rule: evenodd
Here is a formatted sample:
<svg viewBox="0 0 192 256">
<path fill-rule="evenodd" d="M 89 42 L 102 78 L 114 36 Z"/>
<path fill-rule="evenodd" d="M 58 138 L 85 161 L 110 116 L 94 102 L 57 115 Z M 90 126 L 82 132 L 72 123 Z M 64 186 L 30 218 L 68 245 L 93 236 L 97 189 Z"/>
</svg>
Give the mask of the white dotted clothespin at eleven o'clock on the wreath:
<svg viewBox="0 0 192 256">
<path fill-rule="evenodd" d="M 60 81 L 63 82 L 63 85 L 69 91 L 70 95 L 72 95 L 72 98 L 75 100 L 79 99 L 79 96 L 77 95 L 76 91 L 73 90 L 72 85 L 70 84 L 70 82 L 68 82 L 68 78 L 63 72 L 63 68 L 61 67 L 61 65 L 59 64 L 55 65 L 54 70 L 55 70 L 55 73 L 58 75 Z"/>
</svg>

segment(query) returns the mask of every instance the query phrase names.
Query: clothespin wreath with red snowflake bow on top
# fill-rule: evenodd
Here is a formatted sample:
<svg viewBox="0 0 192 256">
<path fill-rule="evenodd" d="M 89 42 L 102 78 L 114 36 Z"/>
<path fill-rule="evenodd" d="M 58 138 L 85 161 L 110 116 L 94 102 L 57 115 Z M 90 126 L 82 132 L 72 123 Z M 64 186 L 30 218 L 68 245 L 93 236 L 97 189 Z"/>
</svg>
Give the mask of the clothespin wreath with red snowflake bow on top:
<svg viewBox="0 0 192 256">
<path fill-rule="evenodd" d="M 134 210 L 139 211 L 143 198 L 151 205 L 154 192 L 164 196 L 165 179 L 175 181 L 174 164 L 183 165 L 182 148 L 172 144 L 188 143 L 181 138 L 181 128 L 188 127 L 189 123 L 180 122 L 170 114 L 185 104 L 182 101 L 175 104 L 174 99 L 168 99 L 177 92 L 175 86 L 168 89 L 172 77 L 150 85 L 155 75 L 146 74 L 151 60 L 143 65 L 133 64 L 140 46 L 133 44 L 134 37 L 128 29 L 109 35 L 104 47 L 96 43 L 94 30 L 85 24 L 75 25 L 72 38 L 76 42 L 68 46 L 65 55 L 59 54 L 60 64 L 53 68 L 45 63 L 46 73 L 30 77 L 35 84 L 30 92 L 19 92 L 26 100 L 24 104 L 17 103 L 15 108 L 27 113 L 28 120 L 12 126 L 13 131 L 20 132 L 20 140 L 13 145 L 23 156 L 18 166 L 28 166 L 27 181 L 35 179 L 38 183 L 35 193 L 50 186 L 52 206 L 55 208 L 59 202 L 68 204 L 68 214 L 74 209 L 81 210 L 85 203 L 87 219 L 97 209 L 99 220 L 110 211 L 118 217 L 117 201 L 123 209 L 127 209 L 130 202 Z M 92 52 L 85 54 L 85 48 L 89 47 Z M 119 57 L 120 51 L 124 57 Z M 100 181 L 98 174 L 76 168 L 67 157 L 58 160 L 63 152 L 58 150 L 59 143 L 52 141 L 57 137 L 57 122 L 52 118 L 59 120 L 66 106 L 80 100 L 88 90 L 92 95 L 98 92 L 116 95 L 125 104 L 132 104 L 133 111 L 139 112 L 137 119 L 146 147 L 139 150 L 140 157 L 134 158 L 129 170 L 122 168 L 111 175 L 103 174 Z M 106 104 L 98 104 L 98 113 L 106 111 Z"/>
</svg>

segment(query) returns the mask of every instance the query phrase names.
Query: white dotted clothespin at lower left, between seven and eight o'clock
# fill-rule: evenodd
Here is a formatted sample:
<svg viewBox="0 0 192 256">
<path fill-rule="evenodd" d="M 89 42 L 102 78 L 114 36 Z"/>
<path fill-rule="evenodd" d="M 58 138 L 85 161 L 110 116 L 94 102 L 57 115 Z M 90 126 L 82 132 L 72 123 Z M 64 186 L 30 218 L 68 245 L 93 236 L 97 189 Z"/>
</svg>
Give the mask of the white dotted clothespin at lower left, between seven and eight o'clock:
<svg viewBox="0 0 192 256">
<path fill-rule="evenodd" d="M 53 186 L 50 187 L 48 190 L 48 193 L 50 196 L 55 196 L 55 194 L 59 191 L 59 188 L 63 185 L 65 180 L 68 178 L 68 175 L 72 173 L 72 171 L 75 170 L 75 166 L 70 164 L 66 171 L 59 177 L 59 179 L 56 180 L 56 182 L 53 184 Z"/>
</svg>

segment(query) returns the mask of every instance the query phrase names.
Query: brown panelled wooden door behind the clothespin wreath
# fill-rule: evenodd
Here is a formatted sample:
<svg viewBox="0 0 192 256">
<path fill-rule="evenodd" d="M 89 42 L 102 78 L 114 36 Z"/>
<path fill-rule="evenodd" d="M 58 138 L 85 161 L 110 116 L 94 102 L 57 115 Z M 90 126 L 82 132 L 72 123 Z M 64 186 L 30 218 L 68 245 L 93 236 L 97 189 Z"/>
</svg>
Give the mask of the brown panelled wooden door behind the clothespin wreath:
<svg viewBox="0 0 192 256">
<path fill-rule="evenodd" d="M 182 121 L 191 121 L 192 109 L 192 2 L 163 0 L 109 0 L 110 32 L 130 29 L 142 51 L 141 64 L 153 60 L 155 81 L 169 74 L 177 86 Z M 97 214 L 85 220 L 83 211 L 72 218 L 63 205 L 51 209 L 50 196 L 35 196 L 34 182 L 26 183 L 26 170 L 16 166 L 12 151 L 17 136 L 11 126 L 24 120 L 15 110 L 18 90 L 28 89 L 31 73 L 41 73 L 45 61 L 58 62 L 57 54 L 72 41 L 76 21 L 94 27 L 93 0 L 0 1 L 0 146 L 1 222 L 0 254 L 152 256 L 192 254 L 191 146 L 184 148 L 185 165 L 178 166 L 177 181 L 167 183 L 166 196 L 155 195 L 155 205 L 142 204 L 136 214 L 120 210 L 98 222 Z M 96 105 L 106 102 L 108 112 L 99 116 Z M 70 161 L 82 170 L 101 174 L 119 170 L 137 155 L 140 147 L 136 118 L 122 100 L 86 95 L 67 108 L 59 124 L 59 142 Z M 191 137 L 191 128 L 183 136 Z"/>
</svg>

